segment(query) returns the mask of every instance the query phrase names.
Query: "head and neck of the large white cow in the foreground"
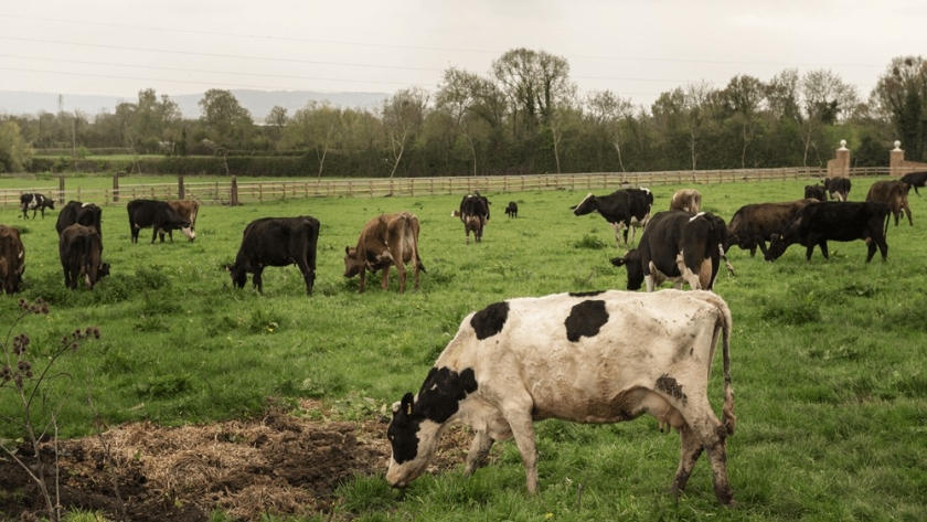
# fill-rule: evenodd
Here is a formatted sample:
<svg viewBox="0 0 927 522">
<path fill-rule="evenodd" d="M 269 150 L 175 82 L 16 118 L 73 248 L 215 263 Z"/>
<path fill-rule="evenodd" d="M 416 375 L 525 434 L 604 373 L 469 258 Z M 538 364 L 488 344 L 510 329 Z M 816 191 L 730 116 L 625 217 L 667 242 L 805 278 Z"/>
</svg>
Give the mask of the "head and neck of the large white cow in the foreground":
<svg viewBox="0 0 927 522">
<path fill-rule="evenodd" d="M 407 393 L 393 404 L 393 422 L 386 430 L 393 449 L 386 470 L 390 486 L 405 488 L 425 472 L 438 449 L 444 428 L 477 387 L 472 369 L 458 373 L 446 366 L 433 367 L 418 395 Z"/>
</svg>

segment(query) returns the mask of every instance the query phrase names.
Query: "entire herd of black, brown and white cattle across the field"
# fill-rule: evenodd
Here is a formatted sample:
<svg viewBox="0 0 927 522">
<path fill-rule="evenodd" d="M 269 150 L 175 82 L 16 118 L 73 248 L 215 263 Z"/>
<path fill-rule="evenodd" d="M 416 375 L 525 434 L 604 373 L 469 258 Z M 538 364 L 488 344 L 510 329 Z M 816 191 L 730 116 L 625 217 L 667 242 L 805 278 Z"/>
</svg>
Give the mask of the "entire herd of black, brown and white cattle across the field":
<svg viewBox="0 0 927 522">
<path fill-rule="evenodd" d="M 901 180 L 873 183 L 865 202 L 850 202 L 845 178 L 806 187 L 805 199 L 742 206 L 729 222 L 702 212 L 695 190 L 673 194 L 670 209 L 651 215 L 653 194 L 647 189 L 621 189 L 608 195 L 588 194 L 573 206 L 577 216 L 598 212 L 612 227 L 616 242 L 627 248 L 641 228 L 637 248 L 611 259 L 624 266 L 628 289 L 646 281 L 647 294 L 617 290 L 556 294 L 497 302 L 470 313 L 439 355 L 417 394 L 407 393 L 393 405 L 387 430 L 392 456 L 386 472 L 394 487 L 405 487 L 433 460 L 444 429 L 451 423 L 469 425 L 475 437 L 466 458 L 466 475 L 480 467 L 496 440 L 514 438 L 525 466 L 528 489 L 537 488 L 537 450 L 533 423 L 560 418 L 579 423 L 630 420 L 643 413 L 680 433 L 680 462 L 671 490 L 684 488 L 699 456 L 707 454 L 714 492 L 724 504 L 733 503 L 727 479 L 726 437 L 736 417 L 729 373 L 731 311 L 713 291 L 721 260 L 734 245 L 758 247 L 775 260 L 792 244 L 814 246 L 828 257 L 828 241 L 862 239 L 866 262 L 876 249 L 887 258 L 885 241 L 891 214 L 902 213 L 913 225 L 907 195 L 927 182 L 927 172 Z M 827 201 L 828 194 L 831 200 Z M 918 193 L 919 195 L 919 193 Z M 54 203 L 41 194 L 22 196 L 23 217 L 33 211 L 44 216 Z M 151 227 L 151 243 L 160 234 L 182 231 L 195 238 L 198 205 L 190 201 L 135 200 L 127 205 L 131 241 Z M 56 230 L 65 285 L 76 288 L 84 279 L 93 288 L 109 273 L 103 263 L 103 233 L 98 206 L 70 202 L 60 212 Z M 518 204 L 505 209 L 518 216 Z M 454 212 L 470 233 L 482 241 L 490 202 L 479 192 L 467 194 Z M 363 227 L 356 245 L 344 249 L 344 276 L 360 275 L 360 291 L 367 271 L 390 269 L 406 287 L 406 265 L 412 264 L 415 288 L 425 271 L 418 253 L 419 223 L 415 214 L 382 214 Z M 247 274 L 263 291 L 267 266 L 297 265 L 312 295 L 319 221 L 310 216 L 265 217 L 244 231 L 235 263 L 227 266 L 233 285 L 245 286 Z M 172 241 L 172 235 L 171 235 Z M 769 246 L 767 247 L 767 242 Z M 733 267 L 727 264 L 733 271 Z M 8 294 L 18 291 L 24 270 L 19 231 L 0 225 L 0 279 Z M 664 280 L 673 290 L 652 292 Z M 680 291 L 689 284 L 692 291 Z M 654 328 L 659 326 L 659 328 Z M 723 419 L 713 412 L 707 380 L 718 340 L 724 363 Z M 594 362 L 590 362 L 594 361 Z"/>
</svg>

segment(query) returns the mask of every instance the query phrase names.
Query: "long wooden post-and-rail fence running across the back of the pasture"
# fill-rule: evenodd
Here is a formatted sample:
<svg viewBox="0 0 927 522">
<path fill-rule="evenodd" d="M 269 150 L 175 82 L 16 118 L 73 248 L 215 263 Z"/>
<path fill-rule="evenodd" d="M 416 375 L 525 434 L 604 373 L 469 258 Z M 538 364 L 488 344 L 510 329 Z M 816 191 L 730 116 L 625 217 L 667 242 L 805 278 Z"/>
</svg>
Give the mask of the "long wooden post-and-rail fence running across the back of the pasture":
<svg viewBox="0 0 927 522">
<path fill-rule="evenodd" d="M 850 169 L 851 178 L 898 175 L 897 169 L 857 168 Z M 60 188 L 50 191 L 41 189 L 0 190 L 0 207 L 18 207 L 20 195 L 41 192 L 56 202 L 83 201 L 108 206 L 136 199 L 196 200 L 206 205 L 230 205 L 239 203 L 263 203 L 308 198 L 382 198 L 388 195 L 450 195 L 479 190 L 483 194 L 525 192 L 533 190 L 617 190 L 627 187 L 659 187 L 667 184 L 749 183 L 761 181 L 818 181 L 827 175 L 827 169 L 738 169 L 696 170 L 665 172 L 594 172 L 576 174 L 491 175 L 466 178 L 397 178 L 318 180 L 294 179 L 275 181 L 239 182 L 234 177 L 228 181 L 184 181 L 178 183 L 138 183 L 118 185 L 113 189 L 66 188 L 68 180 L 60 180 Z M 118 188 L 116 188 L 118 187 Z"/>
</svg>

